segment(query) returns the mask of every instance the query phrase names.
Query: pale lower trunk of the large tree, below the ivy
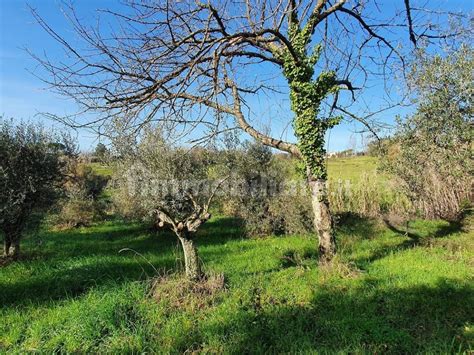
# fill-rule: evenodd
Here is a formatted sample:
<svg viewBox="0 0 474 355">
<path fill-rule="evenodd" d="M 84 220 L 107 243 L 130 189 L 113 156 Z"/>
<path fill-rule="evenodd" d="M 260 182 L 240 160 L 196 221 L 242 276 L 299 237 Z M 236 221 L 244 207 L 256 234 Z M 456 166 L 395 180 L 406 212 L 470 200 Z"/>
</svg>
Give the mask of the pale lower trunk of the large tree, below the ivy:
<svg viewBox="0 0 474 355">
<path fill-rule="evenodd" d="M 329 199 L 325 179 L 308 176 L 311 189 L 311 203 L 314 213 L 314 227 L 319 237 L 319 262 L 326 263 L 336 254 L 333 220 L 329 210 Z"/>
</svg>

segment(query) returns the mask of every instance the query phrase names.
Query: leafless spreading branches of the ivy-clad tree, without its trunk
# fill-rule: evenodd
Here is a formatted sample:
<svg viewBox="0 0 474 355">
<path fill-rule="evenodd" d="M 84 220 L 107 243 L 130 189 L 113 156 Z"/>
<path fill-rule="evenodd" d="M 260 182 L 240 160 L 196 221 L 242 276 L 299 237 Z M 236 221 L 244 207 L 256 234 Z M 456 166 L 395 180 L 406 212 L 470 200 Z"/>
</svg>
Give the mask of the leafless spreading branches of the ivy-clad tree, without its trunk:
<svg viewBox="0 0 474 355">
<path fill-rule="evenodd" d="M 66 6 L 66 19 L 77 37 L 74 41 L 31 8 L 35 20 L 66 56 L 53 61 L 30 54 L 41 69 L 35 74 L 80 107 L 77 115 L 47 114 L 68 125 L 103 133 L 116 121 L 130 131 L 161 121 L 183 136 L 206 127 L 206 134 L 193 137 L 195 142 L 204 142 L 225 131 L 229 120 L 235 120 L 253 138 L 300 156 L 296 144 L 255 128 L 261 114 L 242 111 L 244 103 L 251 105 L 264 96 L 284 102 L 288 88 L 279 86 L 284 73 L 282 58 L 276 53 L 287 50 L 295 63 L 301 64 L 289 24 L 297 24 L 306 33 L 308 51 L 322 45 L 315 73 L 337 73 L 336 85 L 350 92 L 350 101 L 343 93 L 337 95 L 337 106 L 348 112 L 341 111 L 345 117 L 354 119 L 352 115 L 360 116 L 360 98 L 371 92 L 374 82 L 383 83 L 386 92 L 380 95 L 388 97 L 394 76 L 403 75 L 409 54 L 403 45 L 407 38 L 414 45 L 419 45 L 421 38 L 452 38 L 459 31 L 437 30 L 439 24 L 436 27 L 432 17 L 465 18 L 434 7 L 412 7 L 409 0 L 400 2 L 400 8 L 394 6 L 393 13 L 381 11 L 375 0 L 350 4 L 345 0 L 130 0 L 126 11 L 99 12 L 116 24 L 107 33 L 102 32 L 99 20 L 95 27 L 87 25 L 79 20 L 73 6 Z M 406 16 L 400 16 L 403 13 Z M 416 16 L 421 13 L 425 16 Z M 227 73 L 233 75 L 232 85 Z M 329 112 L 333 110 L 329 104 Z M 291 126 L 291 118 L 282 124 Z"/>
</svg>

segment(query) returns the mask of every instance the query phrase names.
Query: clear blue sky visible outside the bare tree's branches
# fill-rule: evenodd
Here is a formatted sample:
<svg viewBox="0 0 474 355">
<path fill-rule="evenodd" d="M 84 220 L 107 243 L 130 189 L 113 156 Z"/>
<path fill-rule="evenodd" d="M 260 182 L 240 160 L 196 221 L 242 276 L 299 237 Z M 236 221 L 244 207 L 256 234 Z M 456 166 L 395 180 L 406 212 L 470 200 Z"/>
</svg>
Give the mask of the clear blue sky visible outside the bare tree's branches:
<svg viewBox="0 0 474 355">
<path fill-rule="evenodd" d="M 386 0 L 390 4 L 392 0 Z M 395 0 L 393 0 L 395 1 Z M 401 1 L 401 0 L 397 0 Z M 0 115 L 25 120 L 43 120 L 35 116 L 38 112 L 54 112 L 56 114 L 72 113 L 76 107 L 70 101 L 52 94 L 44 84 L 29 71 L 35 70 L 35 62 L 24 51 L 24 47 L 38 54 L 49 56 L 60 55 L 60 47 L 33 20 L 27 3 L 38 9 L 53 28 L 64 33 L 70 31 L 63 15 L 61 2 L 58 0 L 0 0 Z M 76 1 L 78 13 L 86 21 L 94 17 L 97 8 L 116 8 L 119 1 L 115 0 L 81 0 Z M 474 0 L 444 0 L 441 3 L 452 11 L 472 11 Z M 66 32 L 67 33 L 67 32 Z M 370 98 L 368 98 L 370 100 Z M 268 107 L 277 106 L 267 102 Z M 401 111 L 400 111 L 401 112 Z M 391 120 L 391 113 L 385 119 Z M 403 113 L 403 112 L 401 112 Z M 45 125 L 54 123 L 44 121 Z M 360 127 L 359 127 L 360 128 Z M 352 147 L 354 142 L 360 146 L 360 135 L 353 132 L 358 127 L 343 124 L 330 133 L 328 151 L 337 151 Z M 98 142 L 90 132 L 78 132 L 78 139 L 83 150 L 89 150 Z"/>
</svg>

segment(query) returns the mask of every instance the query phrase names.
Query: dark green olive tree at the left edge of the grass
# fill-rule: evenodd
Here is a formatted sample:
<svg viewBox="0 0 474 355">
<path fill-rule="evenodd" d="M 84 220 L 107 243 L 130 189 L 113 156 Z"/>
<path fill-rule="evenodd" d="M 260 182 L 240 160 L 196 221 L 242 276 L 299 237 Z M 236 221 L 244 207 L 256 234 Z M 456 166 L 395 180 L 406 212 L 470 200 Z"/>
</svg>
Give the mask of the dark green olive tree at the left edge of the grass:
<svg viewBox="0 0 474 355">
<path fill-rule="evenodd" d="M 0 232 L 4 256 L 17 258 L 27 226 L 38 222 L 59 197 L 70 138 L 34 124 L 0 118 Z"/>
</svg>

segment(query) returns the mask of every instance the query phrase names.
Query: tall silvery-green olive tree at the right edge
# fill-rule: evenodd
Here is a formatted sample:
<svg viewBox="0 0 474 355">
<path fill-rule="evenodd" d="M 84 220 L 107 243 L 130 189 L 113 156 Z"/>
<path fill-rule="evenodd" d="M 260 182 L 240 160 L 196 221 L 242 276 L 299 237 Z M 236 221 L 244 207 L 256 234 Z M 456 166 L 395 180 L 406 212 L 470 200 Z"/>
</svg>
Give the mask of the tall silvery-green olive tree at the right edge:
<svg viewBox="0 0 474 355">
<path fill-rule="evenodd" d="M 401 183 L 418 213 L 455 220 L 472 203 L 474 50 L 419 52 L 409 73 L 416 112 L 399 119 L 384 146 L 384 168 Z"/>
</svg>

